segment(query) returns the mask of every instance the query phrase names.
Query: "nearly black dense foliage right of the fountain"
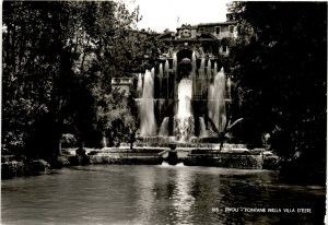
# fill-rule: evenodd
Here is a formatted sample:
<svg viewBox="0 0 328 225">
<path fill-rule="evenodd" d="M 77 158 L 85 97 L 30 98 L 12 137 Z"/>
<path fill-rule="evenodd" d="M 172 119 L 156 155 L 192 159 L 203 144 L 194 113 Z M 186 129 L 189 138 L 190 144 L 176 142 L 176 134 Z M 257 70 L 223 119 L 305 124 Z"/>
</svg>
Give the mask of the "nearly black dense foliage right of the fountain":
<svg viewBox="0 0 328 225">
<path fill-rule="evenodd" d="M 232 49 L 239 116 L 270 133 L 283 158 L 324 171 L 327 3 L 234 2 L 230 10 L 239 15 Z"/>
</svg>

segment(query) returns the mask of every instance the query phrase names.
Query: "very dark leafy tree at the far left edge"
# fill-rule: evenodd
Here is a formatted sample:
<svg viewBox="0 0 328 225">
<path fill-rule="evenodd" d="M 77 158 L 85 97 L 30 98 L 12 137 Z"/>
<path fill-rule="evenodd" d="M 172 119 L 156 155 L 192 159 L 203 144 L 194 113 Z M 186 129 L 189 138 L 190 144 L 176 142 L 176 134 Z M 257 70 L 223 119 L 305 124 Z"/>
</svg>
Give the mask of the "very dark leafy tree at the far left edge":
<svg viewBox="0 0 328 225">
<path fill-rule="evenodd" d="M 3 150 L 58 149 L 72 75 L 67 20 L 63 2 L 3 2 Z"/>
</svg>

